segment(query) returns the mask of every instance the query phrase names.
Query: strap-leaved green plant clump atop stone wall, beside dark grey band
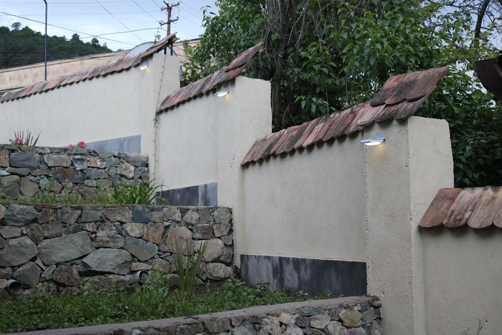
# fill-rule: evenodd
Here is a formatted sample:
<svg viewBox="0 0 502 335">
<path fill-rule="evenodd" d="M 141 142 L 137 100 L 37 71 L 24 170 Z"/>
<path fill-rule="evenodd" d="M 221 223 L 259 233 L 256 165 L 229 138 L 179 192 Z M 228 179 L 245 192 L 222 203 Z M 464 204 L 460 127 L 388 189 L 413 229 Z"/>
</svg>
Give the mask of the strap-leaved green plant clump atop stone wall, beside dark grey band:
<svg viewBox="0 0 502 335">
<path fill-rule="evenodd" d="M 160 195 L 157 195 L 157 190 L 162 185 L 155 185 L 154 181 L 148 183 L 139 183 L 129 185 L 126 182 L 113 185 L 111 199 L 113 203 L 120 204 L 155 204 L 157 200 L 163 200 Z"/>
</svg>

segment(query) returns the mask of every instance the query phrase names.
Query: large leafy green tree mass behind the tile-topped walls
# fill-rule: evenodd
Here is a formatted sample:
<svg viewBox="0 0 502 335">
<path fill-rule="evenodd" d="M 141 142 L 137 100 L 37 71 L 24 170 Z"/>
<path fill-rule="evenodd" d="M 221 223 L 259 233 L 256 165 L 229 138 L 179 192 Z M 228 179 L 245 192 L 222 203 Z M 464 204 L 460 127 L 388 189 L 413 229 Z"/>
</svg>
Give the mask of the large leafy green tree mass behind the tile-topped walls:
<svg viewBox="0 0 502 335">
<path fill-rule="evenodd" d="M 500 106 L 476 77 L 465 74 L 475 60 L 498 54 L 492 41 L 499 27 L 478 29 L 479 17 L 475 22 L 469 10 L 446 0 L 219 0 L 216 5 L 218 15 L 204 10 L 200 43 L 186 44 L 187 81 L 263 40 L 266 52 L 247 75 L 271 81 L 277 131 L 367 100 L 390 75 L 450 65 L 430 98 L 434 103 L 424 103 L 418 114 L 449 122 L 457 186 L 502 183 Z"/>
</svg>

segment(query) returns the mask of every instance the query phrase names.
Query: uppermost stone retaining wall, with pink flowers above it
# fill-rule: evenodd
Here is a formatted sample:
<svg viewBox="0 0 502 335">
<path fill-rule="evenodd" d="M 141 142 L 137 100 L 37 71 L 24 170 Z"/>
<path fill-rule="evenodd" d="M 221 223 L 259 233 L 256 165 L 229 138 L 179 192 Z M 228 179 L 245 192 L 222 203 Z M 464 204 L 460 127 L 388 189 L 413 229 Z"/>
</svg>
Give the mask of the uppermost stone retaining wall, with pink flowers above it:
<svg viewBox="0 0 502 335">
<path fill-rule="evenodd" d="M 0 145 L 0 195 L 33 198 L 46 190 L 91 200 L 104 180 L 148 182 L 148 156 L 82 148 Z"/>
</svg>

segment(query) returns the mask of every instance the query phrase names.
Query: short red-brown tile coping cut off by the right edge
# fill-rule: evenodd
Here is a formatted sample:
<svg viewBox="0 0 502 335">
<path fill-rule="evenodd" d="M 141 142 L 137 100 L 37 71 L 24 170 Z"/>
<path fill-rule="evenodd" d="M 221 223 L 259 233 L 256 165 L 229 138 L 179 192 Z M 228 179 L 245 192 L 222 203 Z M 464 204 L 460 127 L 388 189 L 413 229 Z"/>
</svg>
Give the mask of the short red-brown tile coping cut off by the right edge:
<svg viewBox="0 0 502 335">
<path fill-rule="evenodd" d="M 502 186 L 441 188 L 419 226 L 502 228 Z"/>
</svg>

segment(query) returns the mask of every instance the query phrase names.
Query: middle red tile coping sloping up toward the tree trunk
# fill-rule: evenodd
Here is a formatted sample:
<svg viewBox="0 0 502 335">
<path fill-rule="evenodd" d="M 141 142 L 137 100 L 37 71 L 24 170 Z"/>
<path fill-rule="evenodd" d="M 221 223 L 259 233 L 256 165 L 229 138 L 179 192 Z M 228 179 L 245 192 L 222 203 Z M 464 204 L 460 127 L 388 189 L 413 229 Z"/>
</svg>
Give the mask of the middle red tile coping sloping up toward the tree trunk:
<svg viewBox="0 0 502 335">
<path fill-rule="evenodd" d="M 162 101 L 160 107 L 157 109 L 157 113 L 161 113 L 177 104 L 194 98 L 197 95 L 204 94 L 216 88 L 219 84 L 229 81 L 245 70 L 249 64 L 251 64 L 257 55 L 263 51 L 263 42 L 255 45 L 252 48 L 247 49 L 237 56 L 230 64 L 222 69 L 208 75 L 200 80 L 197 80 L 191 84 L 181 87 L 166 96 L 164 101 Z"/>
</svg>

